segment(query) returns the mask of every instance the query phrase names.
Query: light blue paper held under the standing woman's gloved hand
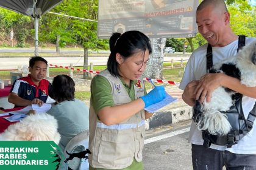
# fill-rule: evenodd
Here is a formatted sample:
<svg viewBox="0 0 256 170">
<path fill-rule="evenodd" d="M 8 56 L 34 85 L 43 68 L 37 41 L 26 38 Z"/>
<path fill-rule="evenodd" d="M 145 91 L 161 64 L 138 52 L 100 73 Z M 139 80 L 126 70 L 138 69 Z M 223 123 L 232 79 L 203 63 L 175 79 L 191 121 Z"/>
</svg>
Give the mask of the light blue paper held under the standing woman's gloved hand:
<svg viewBox="0 0 256 170">
<path fill-rule="evenodd" d="M 166 93 L 166 92 L 165 92 Z M 154 113 L 156 110 L 161 109 L 162 107 L 174 103 L 175 101 L 177 101 L 177 98 L 171 97 L 171 95 L 169 95 L 168 93 L 166 93 L 166 97 L 163 101 L 160 101 L 158 103 L 152 104 L 151 106 L 148 106 L 146 108 L 144 108 L 144 110 L 150 112 L 150 113 Z"/>
</svg>

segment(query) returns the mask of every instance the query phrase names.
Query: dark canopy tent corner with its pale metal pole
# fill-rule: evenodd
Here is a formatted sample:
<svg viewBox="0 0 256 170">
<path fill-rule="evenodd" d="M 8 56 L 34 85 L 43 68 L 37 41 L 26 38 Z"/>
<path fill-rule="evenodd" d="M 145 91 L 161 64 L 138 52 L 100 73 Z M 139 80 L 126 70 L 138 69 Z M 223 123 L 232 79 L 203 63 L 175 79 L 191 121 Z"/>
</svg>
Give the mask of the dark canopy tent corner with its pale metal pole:
<svg viewBox="0 0 256 170">
<path fill-rule="evenodd" d="M 34 18 L 35 55 L 38 55 L 38 19 L 63 0 L 1 0 L 0 7 Z"/>
</svg>

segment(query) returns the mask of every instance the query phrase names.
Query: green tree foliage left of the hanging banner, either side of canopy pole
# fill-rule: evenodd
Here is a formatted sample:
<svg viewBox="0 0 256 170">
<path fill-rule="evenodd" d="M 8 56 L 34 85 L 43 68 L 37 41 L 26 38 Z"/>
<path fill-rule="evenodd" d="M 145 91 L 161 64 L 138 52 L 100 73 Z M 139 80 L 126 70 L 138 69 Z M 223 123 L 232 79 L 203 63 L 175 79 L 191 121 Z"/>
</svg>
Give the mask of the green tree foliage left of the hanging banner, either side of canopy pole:
<svg viewBox="0 0 256 170">
<path fill-rule="evenodd" d="M 79 18 L 98 19 L 98 0 L 65 0 L 51 12 Z M 34 22 L 28 16 L 0 8 L 0 35 L 9 35 L 13 24 L 18 46 L 24 47 L 26 39 L 34 36 Z M 24 31 L 24 28 L 29 30 Z M 98 39 L 97 22 L 46 13 L 39 19 L 38 37 L 41 42 L 56 42 L 60 35 L 59 46 L 81 44 L 85 49 L 108 49 L 108 40 Z"/>
</svg>

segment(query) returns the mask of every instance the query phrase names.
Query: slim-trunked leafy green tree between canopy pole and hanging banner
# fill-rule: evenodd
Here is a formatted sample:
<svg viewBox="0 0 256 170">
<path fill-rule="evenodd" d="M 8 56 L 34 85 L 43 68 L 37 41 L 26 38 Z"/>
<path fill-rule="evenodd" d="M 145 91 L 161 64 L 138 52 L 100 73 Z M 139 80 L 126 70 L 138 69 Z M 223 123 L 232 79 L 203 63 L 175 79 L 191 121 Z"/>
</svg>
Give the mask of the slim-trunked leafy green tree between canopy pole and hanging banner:
<svg viewBox="0 0 256 170">
<path fill-rule="evenodd" d="M 106 39 L 98 39 L 97 36 L 98 1 L 66 0 L 57 6 L 54 12 L 95 21 L 77 18 L 60 19 L 61 17 L 56 19 L 55 16 L 54 22 L 51 23 L 52 35 L 55 37 L 60 35 L 59 44 L 71 42 L 81 44 L 84 47 L 84 69 L 88 69 L 88 49 L 98 50 L 108 48 L 108 41 Z M 85 77 L 88 77 L 87 72 L 84 72 Z"/>
</svg>

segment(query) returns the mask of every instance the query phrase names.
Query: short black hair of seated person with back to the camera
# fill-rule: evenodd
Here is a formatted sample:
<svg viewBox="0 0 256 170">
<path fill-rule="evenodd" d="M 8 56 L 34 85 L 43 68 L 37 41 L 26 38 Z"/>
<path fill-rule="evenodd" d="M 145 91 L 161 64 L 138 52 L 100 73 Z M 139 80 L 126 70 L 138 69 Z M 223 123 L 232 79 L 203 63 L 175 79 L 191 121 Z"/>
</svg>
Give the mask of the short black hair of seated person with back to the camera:
<svg viewBox="0 0 256 170">
<path fill-rule="evenodd" d="M 52 81 L 52 93 L 54 100 L 62 101 L 74 100 L 75 83 L 68 75 L 57 75 Z"/>
</svg>

